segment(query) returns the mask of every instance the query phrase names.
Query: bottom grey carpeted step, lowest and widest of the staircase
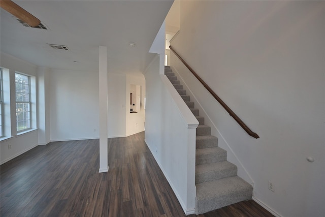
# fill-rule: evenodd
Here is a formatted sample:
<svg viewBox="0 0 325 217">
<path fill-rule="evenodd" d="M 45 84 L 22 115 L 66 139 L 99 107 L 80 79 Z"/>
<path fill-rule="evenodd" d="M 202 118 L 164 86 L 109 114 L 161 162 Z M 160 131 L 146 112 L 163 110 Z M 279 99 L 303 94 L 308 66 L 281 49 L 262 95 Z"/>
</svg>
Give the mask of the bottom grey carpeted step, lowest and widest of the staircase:
<svg viewBox="0 0 325 217">
<path fill-rule="evenodd" d="M 251 199 L 250 184 L 238 176 L 196 184 L 196 214 Z"/>
</svg>

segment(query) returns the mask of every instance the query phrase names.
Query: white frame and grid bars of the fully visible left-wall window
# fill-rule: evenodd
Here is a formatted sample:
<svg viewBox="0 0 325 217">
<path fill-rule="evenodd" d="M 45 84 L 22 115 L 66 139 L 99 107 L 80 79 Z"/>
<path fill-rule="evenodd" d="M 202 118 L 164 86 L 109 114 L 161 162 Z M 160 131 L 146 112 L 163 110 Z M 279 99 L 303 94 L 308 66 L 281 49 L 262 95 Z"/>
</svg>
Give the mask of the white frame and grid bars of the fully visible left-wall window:
<svg viewBox="0 0 325 217">
<path fill-rule="evenodd" d="M 21 101 L 17 101 L 17 94 L 21 94 L 22 96 L 26 94 L 26 92 L 24 92 L 23 88 L 21 89 L 21 91 L 17 91 L 17 84 L 20 84 L 22 87 L 24 85 L 26 85 L 25 83 L 23 83 L 23 81 L 21 82 L 17 82 L 16 80 L 16 75 L 21 75 L 22 77 L 27 77 L 28 78 L 28 101 L 23 101 L 23 97 L 21 97 Z M 22 73 L 19 73 L 19 72 L 16 72 L 15 73 L 15 105 L 16 105 L 16 129 L 17 129 L 17 133 L 21 133 L 21 132 L 24 132 L 24 131 L 28 131 L 31 129 L 31 113 L 32 113 L 32 109 L 31 109 L 31 94 L 30 94 L 30 76 L 28 75 L 24 75 Z M 26 96 L 26 95 L 25 95 Z M 23 104 L 23 110 L 22 111 L 18 111 L 18 104 Z M 27 111 L 25 110 L 25 106 L 27 105 L 28 109 Z M 23 119 L 20 120 L 18 119 L 18 117 L 22 115 L 23 116 Z M 27 121 L 27 124 L 25 125 Z M 20 129 L 20 123 L 19 122 L 23 122 L 23 129 Z"/>
</svg>

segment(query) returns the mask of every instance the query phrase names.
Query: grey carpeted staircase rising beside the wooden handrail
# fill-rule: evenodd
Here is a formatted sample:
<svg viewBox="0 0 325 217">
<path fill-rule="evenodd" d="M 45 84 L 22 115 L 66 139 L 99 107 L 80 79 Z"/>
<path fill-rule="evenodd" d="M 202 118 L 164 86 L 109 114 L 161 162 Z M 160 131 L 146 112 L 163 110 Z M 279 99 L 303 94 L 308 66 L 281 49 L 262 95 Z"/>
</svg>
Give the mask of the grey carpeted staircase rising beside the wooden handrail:
<svg viewBox="0 0 325 217">
<path fill-rule="evenodd" d="M 186 90 L 169 66 L 165 66 L 165 75 L 199 121 L 196 133 L 196 214 L 251 199 L 253 188 L 237 176 L 237 167 L 227 161 L 227 152 L 218 147 L 218 138 L 211 136 L 211 128 L 204 125 L 204 117 L 200 117 L 199 109 L 190 102 Z"/>
</svg>

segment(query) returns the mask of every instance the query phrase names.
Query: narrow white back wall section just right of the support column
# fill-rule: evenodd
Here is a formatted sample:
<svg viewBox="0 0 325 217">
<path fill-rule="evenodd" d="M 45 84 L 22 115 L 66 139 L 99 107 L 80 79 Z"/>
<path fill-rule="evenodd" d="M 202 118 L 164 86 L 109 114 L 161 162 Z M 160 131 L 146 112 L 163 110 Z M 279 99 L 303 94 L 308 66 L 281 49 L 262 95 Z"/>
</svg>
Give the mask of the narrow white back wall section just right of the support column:
<svg viewBox="0 0 325 217">
<path fill-rule="evenodd" d="M 108 137 L 125 137 L 126 75 L 108 73 Z"/>
</svg>

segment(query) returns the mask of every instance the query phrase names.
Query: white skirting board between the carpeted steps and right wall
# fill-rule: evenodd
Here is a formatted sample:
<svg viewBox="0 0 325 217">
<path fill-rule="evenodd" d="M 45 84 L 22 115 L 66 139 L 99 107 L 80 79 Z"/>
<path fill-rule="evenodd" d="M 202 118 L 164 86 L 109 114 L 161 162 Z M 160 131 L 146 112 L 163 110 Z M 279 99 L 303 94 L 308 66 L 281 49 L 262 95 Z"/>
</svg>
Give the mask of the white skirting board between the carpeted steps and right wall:
<svg viewBox="0 0 325 217">
<path fill-rule="evenodd" d="M 253 196 L 254 196 L 254 180 L 249 175 L 248 171 L 244 167 L 244 165 L 241 163 L 239 158 L 237 157 L 237 154 L 235 151 L 231 148 L 230 144 L 225 140 L 225 138 L 222 136 L 214 122 L 211 120 L 210 116 L 207 114 L 206 110 L 202 107 L 196 96 L 193 94 L 191 89 L 187 86 L 187 84 L 184 82 L 182 76 L 178 73 L 178 71 L 171 66 L 172 71 L 177 75 L 177 78 L 180 81 L 180 84 L 183 85 L 183 89 L 186 90 L 187 95 L 190 96 L 190 99 L 194 104 L 197 106 L 197 108 L 200 110 L 200 116 L 203 116 L 205 118 L 205 125 L 211 127 L 211 135 L 218 138 L 218 146 L 225 149 L 227 151 L 227 161 L 235 164 L 237 166 L 237 174 L 239 177 L 244 179 L 246 182 L 250 183 L 253 187 Z"/>
</svg>

